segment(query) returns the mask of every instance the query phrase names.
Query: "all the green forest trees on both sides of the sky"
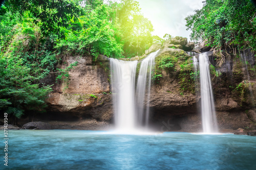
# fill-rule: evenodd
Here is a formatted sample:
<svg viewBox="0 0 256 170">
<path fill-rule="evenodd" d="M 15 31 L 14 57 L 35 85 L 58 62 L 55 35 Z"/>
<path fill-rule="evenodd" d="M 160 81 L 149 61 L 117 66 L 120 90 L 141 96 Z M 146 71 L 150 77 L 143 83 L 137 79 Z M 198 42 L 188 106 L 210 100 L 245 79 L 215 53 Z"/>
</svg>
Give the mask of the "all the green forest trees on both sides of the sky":
<svg viewBox="0 0 256 170">
<path fill-rule="evenodd" d="M 205 41 L 221 61 L 238 50 L 256 50 L 256 9 L 249 0 L 203 4 L 186 17 L 191 40 Z M 78 63 L 56 69 L 63 57 L 131 58 L 172 38 L 152 35 L 151 21 L 134 0 L 7 0 L 0 20 L 0 109 L 15 117 L 44 112 L 52 89 L 40 80 L 50 73 L 68 83 L 68 71 Z"/>
</svg>

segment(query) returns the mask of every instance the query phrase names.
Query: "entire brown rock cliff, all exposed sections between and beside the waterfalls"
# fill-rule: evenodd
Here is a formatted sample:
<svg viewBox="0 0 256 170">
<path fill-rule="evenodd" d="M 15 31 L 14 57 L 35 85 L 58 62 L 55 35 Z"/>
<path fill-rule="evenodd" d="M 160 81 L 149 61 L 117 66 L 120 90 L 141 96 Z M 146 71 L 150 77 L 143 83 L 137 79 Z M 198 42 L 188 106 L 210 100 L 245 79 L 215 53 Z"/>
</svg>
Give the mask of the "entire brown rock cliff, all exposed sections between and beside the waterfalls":
<svg viewBox="0 0 256 170">
<path fill-rule="evenodd" d="M 156 58 L 157 64 L 165 58 L 173 60 L 174 65 L 169 69 L 158 70 L 157 74 L 162 77 L 155 80 L 152 85 L 151 126 L 160 131 L 200 131 L 202 130 L 200 95 L 195 93 L 195 82 L 190 75 L 193 72 L 192 57 L 180 49 L 185 48 L 187 41 L 183 42 L 182 39 L 179 41 L 182 44 L 166 41 Z M 159 44 L 154 45 L 159 46 Z M 189 45 L 194 47 L 193 43 Z M 155 50 L 154 47 L 152 49 Z M 148 50 L 147 53 L 151 51 Z M 211 64 L 216 66 L 215 70 L 221 72 L 218 76 L 211 74 L 220 129 L 253 128 L 256 113 L 250 101 L 251 96 L 244 78 L 246 74 L 244 67 L 234 60 L 226 61 L 220 67 L 217 66 L 218 60 L 215 60 L 214 54 L 209 57 Z M 141 61 L 143 58 L 135 57 L 129 60 Z M 69 71 L 70 84 L 67 89 L 62 82 L 55 83 L 56 75 L 54 74 L 42 80 L 47 84 L 55 83 L 54 91 L 48 99 L 48 115 L 53 115 L 50 118 L 52 121 L 55 119 L 66 121 L 62 124 L 52 122 L 58 129 L 102 129 L 99 127 L 112 124 L 114 118 L 111 85 L 108 80 L 109 70 L 104 69 L 109 68 L 109 61 L 106 57 L 99 56 L 98 64 L 93 65 L 90 57 L 66 57 L 63 61 L 66 64 L 58 67 L 65 68 L 75 61 L 78 61 L 78 65 Z M 256 96 L 255 79 L 250 81 L 252 91 L 254 91 L 253 96 Z M 239 83 L 241 83 L 242 90 L 236 88 Z M 71 119 L 73 122 L 67 123 Z M 90 121 L 83 122 L 87 120 Z M 172 126 L 166 127 L 166 125 Z"/>
</svg>

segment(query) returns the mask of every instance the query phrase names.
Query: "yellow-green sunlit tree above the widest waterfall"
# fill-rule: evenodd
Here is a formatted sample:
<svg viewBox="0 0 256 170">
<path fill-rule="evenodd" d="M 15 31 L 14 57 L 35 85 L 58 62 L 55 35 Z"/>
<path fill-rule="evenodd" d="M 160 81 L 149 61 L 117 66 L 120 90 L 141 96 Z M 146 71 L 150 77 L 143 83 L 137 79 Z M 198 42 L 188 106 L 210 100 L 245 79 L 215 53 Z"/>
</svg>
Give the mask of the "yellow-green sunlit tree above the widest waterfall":
<svg viewBox="0 0 256 170">
<path fill-rule="evenodd" d="M 151 21 L 143 17 L 137 1 L 122 0 L 120 4 L 112 3 L 111 7 L 114 9 L 112 20 L 119 26 L 116 39 L 123 44 L 124 56 L 142 55 L 153 43 Z"/>
</svg>

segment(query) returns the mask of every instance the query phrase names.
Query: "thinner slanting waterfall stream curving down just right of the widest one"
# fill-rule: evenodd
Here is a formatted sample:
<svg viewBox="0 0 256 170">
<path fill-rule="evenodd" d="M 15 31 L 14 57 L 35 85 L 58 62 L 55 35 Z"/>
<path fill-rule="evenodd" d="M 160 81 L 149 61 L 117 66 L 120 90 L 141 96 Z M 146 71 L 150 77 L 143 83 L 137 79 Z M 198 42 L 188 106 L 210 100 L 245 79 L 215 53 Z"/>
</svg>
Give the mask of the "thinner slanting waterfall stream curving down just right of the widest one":
<svg viewBox="0 0 256 170">
<path fill-rule="evenodd" d="M 159 49 L 160 50 L 160 49 Z M 150 115 L 150 89 L 151 89 L 151 75 L 155 67 L 155 57 L 157 53 L 151 53 L 148 55 L 140 65 L 139 77 L 137 82 L 136 96 L 137 96 L 137 115 L 138 125 L 142 127 L 148 127 L 148 120 Z M 146 103 L 144 105 L 144 102 Z"/>
</svg>

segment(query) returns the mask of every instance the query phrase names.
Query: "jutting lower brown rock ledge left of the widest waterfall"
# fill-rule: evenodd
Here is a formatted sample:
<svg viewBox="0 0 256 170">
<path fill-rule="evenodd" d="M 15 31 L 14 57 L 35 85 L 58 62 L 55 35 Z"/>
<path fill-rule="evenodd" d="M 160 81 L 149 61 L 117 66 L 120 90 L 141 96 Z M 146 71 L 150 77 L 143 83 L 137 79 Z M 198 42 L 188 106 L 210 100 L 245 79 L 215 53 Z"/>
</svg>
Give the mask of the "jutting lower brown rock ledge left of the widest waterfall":
<svg viewBox="0 0 256 170">
<path fill-rule="evenodd" d="M 95 97 L 94 97 L 94 96 Z M 111 94 L 52 93 L 48 99 L 48 111 L 70 116 L 89 116 L 98 120 L 110 120 L 113 116 Z"/>
</svg>

